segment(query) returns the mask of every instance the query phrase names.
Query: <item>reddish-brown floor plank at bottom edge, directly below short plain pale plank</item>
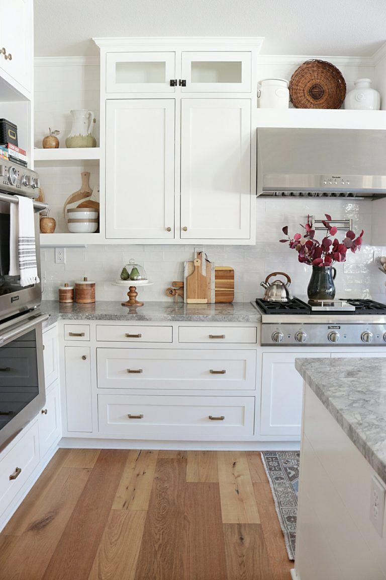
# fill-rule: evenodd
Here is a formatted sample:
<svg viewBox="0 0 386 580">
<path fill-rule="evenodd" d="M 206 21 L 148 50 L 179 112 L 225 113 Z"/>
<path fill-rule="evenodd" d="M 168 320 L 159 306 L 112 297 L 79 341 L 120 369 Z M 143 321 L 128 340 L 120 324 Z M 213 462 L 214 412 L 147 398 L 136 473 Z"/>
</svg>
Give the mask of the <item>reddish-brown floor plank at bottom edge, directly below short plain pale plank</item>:
<svg viewBox="0 0 386 580">
<path fill-rule="evenodd" d="M 188 483 L 182 554 L 183 580 L 226 580 L 219 485 Z"/>
</svg>

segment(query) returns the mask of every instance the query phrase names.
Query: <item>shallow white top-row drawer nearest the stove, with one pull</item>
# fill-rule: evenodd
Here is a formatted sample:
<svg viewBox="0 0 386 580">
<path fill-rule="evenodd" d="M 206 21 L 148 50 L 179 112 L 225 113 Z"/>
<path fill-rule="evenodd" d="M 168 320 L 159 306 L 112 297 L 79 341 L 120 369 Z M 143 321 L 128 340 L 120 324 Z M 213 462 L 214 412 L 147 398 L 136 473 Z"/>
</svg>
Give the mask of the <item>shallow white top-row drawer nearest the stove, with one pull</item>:
<svg viewBox="0 0 386 580">
<path fill-rule="evenodd" d="M 256 327 L 178 327 L 178 342 L 250 343 L 255 344 Z"/>
</svg>

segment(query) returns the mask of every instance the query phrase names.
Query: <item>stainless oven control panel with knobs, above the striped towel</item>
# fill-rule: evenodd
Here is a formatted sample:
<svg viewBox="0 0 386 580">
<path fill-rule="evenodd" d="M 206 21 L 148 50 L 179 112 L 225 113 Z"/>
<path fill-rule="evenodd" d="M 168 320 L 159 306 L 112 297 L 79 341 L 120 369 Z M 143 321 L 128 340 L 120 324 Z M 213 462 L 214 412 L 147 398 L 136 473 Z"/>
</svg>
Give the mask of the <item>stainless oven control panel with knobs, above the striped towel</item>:
<svg viewBox="0 0 386 580">
<path fill-rule="evenodd" d="M 38 173 L 5 160 L 0 160 L 0 190 L 5 193 L 27 195 L 36 199 L 40 193 Z"/>
</svg>

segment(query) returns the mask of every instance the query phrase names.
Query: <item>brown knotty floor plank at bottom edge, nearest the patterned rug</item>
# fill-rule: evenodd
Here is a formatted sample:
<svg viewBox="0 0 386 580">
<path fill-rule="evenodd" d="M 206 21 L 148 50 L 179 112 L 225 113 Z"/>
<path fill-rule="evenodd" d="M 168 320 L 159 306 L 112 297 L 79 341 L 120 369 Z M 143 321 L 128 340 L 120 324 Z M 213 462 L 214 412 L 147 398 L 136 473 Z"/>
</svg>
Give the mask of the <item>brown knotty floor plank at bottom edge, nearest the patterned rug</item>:
<svg viewBox="0 0 386 580">
<path fill-rule="evenodd" d="M 272 580 L 261 524 L 224 524 L 229 580 Z"/>
</svg>

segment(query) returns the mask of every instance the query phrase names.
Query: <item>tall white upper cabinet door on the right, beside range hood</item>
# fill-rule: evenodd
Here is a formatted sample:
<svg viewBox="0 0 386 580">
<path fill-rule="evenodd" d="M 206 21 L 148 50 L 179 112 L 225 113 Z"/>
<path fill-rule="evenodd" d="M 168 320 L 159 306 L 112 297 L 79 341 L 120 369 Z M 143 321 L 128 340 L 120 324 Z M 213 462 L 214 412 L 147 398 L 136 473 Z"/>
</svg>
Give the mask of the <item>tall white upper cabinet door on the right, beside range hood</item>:
<svg viewBox="0 0 386 580">
<path fill-rule="evenodd" d="M 251 100 L 182 99 L 181 239 L 251 235 Z"/>
</svg>

